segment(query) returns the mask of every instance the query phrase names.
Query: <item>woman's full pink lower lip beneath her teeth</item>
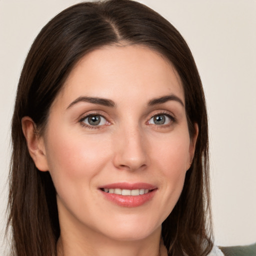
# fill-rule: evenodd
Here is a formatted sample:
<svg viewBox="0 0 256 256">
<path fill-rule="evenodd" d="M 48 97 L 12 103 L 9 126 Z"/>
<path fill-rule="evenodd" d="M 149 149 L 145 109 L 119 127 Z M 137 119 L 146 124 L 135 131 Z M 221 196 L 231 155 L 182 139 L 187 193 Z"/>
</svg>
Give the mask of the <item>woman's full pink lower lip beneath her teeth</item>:
<svg viewBox="0 0 256 256">
<path fill-rule="evenodd" d="M 114 193 L 106 193 L 100 190 L 105 198 L 117 205 L 123 207 L 137 207 L 140 206 L 148 201 L 150 201 L 157 189 L 153 189 L 148 193 L 140 194 L 140 195 L 121 195 L 121 194 L 114 194 Z"/>
</svg>

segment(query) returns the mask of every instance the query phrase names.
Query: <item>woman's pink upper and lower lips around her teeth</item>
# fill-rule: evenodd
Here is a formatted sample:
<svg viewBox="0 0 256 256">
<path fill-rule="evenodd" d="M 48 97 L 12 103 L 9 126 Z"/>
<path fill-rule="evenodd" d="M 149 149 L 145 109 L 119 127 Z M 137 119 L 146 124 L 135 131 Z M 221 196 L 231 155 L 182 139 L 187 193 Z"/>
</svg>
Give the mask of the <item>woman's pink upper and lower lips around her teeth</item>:
<svg viewBox="0 0 256 256">
<path fill-rule="evenodd" d="M 152 184 L 148 184 L 148 183 L 130 184 L 126 182 L 107 184 L 100 188 L 121 188 L 121 189 L 130 189 L 130 190 L 144 188 L 144 189 L 150 190 L 148 193 L 140 194 L 140 195 L 120 195 L 120 194 L 114 194 L 114 193 L 106 193 L 101 189 L 99 189 L 99 191 L 107 200 L 123 207 L 140 206 L 150 201 L 157 190 L 157 187 Z"/>
</svg>

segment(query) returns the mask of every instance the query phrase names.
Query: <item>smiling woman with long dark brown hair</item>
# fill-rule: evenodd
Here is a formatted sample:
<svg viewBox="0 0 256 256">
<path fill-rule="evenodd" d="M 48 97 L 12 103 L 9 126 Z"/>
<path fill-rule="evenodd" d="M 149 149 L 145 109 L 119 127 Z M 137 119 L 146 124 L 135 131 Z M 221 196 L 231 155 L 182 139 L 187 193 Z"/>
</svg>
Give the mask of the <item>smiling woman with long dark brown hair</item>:
<svg viewBox="0 0 256 256">
<path fill-rule="evenodd" d="M 201 81 L 181 35 L 146 6 L 80 3 L 42 28 L 12 146 L 13 254 L 212 250 Z"/>
</svg>

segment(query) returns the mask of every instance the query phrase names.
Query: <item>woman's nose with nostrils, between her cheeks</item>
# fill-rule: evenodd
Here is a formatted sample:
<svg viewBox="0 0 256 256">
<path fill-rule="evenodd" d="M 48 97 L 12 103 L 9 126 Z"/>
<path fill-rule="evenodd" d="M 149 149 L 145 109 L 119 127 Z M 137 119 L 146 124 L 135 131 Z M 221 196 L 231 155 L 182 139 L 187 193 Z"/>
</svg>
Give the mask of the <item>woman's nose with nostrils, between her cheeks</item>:
<svg viewBox="0 0 256 256">
<path fill-rule="evenodd" d="M 118 169 L 135 171 L 148 164 L 146 139 L 138 127 L 126 127 L 114 139 L 113 164 Z"/>
</svg>

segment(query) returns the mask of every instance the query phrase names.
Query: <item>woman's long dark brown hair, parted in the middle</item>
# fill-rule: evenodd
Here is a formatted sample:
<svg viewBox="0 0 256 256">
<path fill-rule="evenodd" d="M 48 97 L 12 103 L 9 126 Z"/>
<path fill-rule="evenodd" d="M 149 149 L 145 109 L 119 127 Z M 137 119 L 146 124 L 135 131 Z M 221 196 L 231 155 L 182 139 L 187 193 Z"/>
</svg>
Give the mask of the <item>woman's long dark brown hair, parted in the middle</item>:
<svg viewBox="0 0 256 256">
<path fill-rule="evenodd" d="M 60 233 L 54 185 L 28 153 L 21 118 L 30 116 L 43 131 L 49 107 L 75 63 L 97 47 L 122 41 L 146 45 L 174 65 L 184 89 L 190 136 L 194 123 L 199 128 L 182 193 L 162 223 L 168 255 L 198 256 L 210 251 L 207 114 L 192 54 L 179 32 L 155 11 L 131 0 L 107 0 L 82 2 L 57 14 L 42 28 L 26 57 L 11 130 L 8 227 L 13 255 L 56 255 Z"/>
</svg>

